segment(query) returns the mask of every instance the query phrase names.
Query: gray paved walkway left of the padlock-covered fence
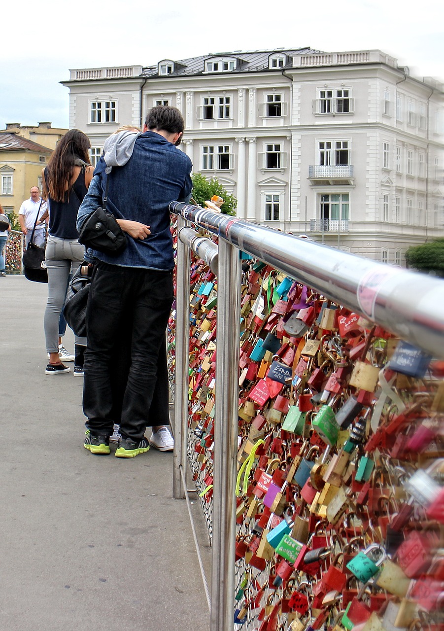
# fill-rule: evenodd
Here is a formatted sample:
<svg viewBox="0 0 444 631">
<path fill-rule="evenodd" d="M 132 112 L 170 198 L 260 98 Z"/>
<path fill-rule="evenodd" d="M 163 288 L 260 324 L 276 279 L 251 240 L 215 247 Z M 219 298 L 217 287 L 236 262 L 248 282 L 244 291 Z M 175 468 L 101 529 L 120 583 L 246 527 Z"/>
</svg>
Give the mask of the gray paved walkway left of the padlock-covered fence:
<svg viewBox="0 0 444 631">
<path fill-rule="evenodd" d="M 83 380 L 44 372 L 46 295 L 24 277 L 0 279 L 0 630 L 207 630 L 173 456 L 83 448 Z M 197 502 L 194 512 L 209 579 Z"/>
</svg>

